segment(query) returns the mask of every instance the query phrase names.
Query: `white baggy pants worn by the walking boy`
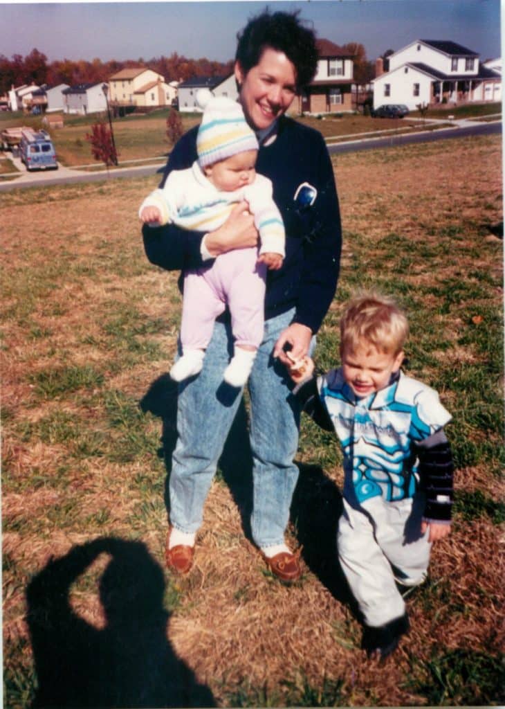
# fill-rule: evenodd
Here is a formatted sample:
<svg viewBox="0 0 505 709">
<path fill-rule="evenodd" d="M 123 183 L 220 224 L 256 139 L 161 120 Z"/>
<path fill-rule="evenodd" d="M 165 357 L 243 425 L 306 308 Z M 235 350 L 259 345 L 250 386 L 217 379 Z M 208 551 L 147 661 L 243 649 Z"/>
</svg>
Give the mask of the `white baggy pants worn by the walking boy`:
<svg viewBox="0 0 505 709">
<path fill-rule="evenodd" d="M 353 508 L 344 499 L 337 535 L 342 570 L 366 625 L 378 627 L 405 613 L 395 576 L 420 584 L 431 544 L 421 535 L 424 495 L 387 502 L 382 497 Z M 392 568 L 393 567 L 393 568 Z"/>
</svg>

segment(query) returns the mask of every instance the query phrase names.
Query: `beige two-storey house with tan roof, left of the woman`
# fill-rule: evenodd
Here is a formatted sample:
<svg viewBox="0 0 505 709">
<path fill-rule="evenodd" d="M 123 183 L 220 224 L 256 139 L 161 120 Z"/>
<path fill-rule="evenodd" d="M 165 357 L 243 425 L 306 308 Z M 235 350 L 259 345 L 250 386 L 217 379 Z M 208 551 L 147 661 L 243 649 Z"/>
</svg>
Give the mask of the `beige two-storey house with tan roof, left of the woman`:
<svg viewBox="0 0 505 709">
<path fill-rule="evenodd" d="M 170 106 L 176 98 L 174 82 L 145 67 L 121 69 L 109 79 L 111 106 Z"/>
</svg>

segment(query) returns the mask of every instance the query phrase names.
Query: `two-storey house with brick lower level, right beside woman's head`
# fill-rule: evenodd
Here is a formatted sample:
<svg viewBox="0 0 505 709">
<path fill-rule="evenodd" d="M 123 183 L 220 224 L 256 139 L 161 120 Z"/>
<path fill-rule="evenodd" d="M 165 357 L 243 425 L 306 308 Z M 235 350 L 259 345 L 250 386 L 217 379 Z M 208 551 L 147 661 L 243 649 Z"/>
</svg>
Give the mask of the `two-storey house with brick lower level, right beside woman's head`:
<svg viewBox="0 0 505 709">
<path fill-rule="evenodd" d="M 353 56 L 329 40 L 316 42 L 317 72 L 307 88 L 293 102 L 298 113 L 353 111 Z"/>
</svg>

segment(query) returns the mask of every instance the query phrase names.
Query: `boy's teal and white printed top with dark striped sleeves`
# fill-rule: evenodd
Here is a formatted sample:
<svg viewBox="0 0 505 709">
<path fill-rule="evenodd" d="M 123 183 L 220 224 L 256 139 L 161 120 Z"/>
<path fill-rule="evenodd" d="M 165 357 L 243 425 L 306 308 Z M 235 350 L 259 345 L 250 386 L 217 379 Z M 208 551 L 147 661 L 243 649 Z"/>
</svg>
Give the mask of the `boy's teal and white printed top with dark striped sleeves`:
<svg viewBox="0 0 505 709">
<path fill-rule="evenodd" d="M 304 410 L 339 437 L 351 505 L 410 498 L 421 482 L 425 518 L 450 520 L 453 463 L 443 426 L 451 416 L 434 389 L 399 372 L 384 389 L 358 398 L 341 369 L 331 369 L 295 392 Z"/>
</svg>

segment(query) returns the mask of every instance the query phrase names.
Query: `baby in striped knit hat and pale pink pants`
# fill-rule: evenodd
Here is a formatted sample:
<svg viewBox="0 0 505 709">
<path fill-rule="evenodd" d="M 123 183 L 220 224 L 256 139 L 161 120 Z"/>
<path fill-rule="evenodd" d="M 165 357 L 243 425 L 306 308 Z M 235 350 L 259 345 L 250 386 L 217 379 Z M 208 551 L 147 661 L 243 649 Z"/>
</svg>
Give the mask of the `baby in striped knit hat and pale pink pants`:
<svg viewBox="0 0 505 709">
<path fill-rule="evenodd" d="M 273 201 L 272 183 L 256 174 L 258 148 L 240 104 L 212 98 L 198 129 L 198 160 L 188 169 L 172 171 L 164 187 L 154 190 L 140 207 L 140 219 L 149 225 L 174 223 L 208 233 L 225 223 L 234 204 L 245 200 L 261 240 L 259 254 L 257 247 L 232 250 L 208 267 L 184 273 L 182 355 L 170 370 L 176 381 L 200 372 L 215 318 L 226 306 L 234 356 L 224 379 L 241 387 L 251 372 L 263 337 L 266 269 L 280 269 L 285 255 L 284 225 Z"/>
</svg>

